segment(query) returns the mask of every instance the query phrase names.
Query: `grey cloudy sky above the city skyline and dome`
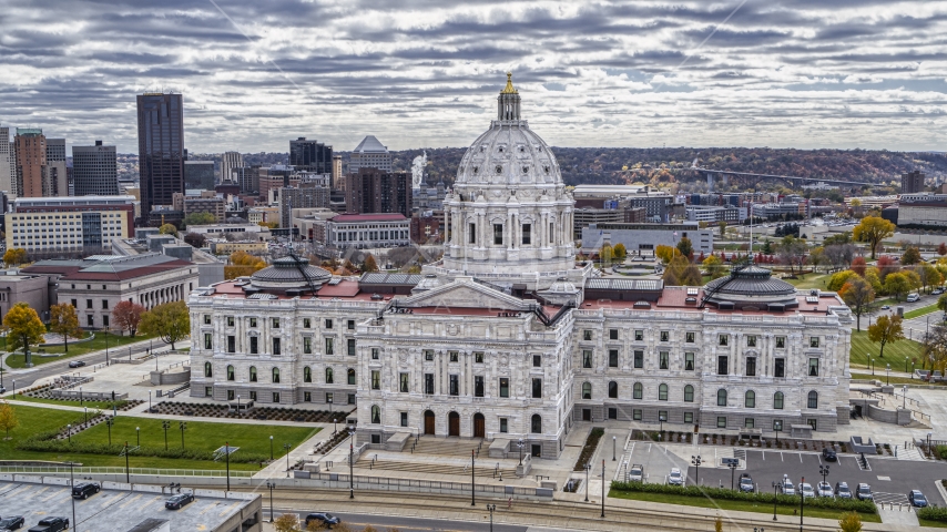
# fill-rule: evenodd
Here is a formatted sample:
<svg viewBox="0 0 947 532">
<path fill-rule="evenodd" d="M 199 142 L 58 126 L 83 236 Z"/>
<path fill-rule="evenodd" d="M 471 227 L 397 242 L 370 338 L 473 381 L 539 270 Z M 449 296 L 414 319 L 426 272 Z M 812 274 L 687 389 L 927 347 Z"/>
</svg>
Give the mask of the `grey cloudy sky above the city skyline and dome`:
<svg viewBox="0 0 947 532">
<path fill-rule="evenodd" d="M 561 146 L 947 149 L 947 2 L 0 0 L 0 124 L 136 152 L 470 144 L 505 72 Z"/>
</svg>

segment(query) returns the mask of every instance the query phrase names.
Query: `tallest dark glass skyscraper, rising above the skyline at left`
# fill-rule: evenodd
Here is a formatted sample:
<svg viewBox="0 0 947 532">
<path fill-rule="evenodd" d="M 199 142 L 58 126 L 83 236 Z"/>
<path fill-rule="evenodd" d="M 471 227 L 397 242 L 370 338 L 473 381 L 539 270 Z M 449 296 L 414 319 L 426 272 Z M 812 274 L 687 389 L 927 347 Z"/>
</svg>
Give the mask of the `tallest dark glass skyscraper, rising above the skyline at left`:
<svg viewBox="0 0 947 532">
<path fill-rule="evenodd" d="M 181 94 L 138 96 L 142 217 L 184 192 L 184 100 Z"/>
</svg>

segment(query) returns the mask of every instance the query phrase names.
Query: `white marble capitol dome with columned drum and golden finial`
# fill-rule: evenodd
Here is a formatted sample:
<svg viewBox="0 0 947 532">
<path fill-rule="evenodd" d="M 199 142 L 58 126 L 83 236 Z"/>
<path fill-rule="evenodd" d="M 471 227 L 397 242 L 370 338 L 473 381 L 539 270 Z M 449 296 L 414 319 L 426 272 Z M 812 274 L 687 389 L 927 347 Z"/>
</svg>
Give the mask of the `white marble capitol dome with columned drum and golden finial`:
<svg viewBox="0 0 947 532">
<path fill-rule="evenodd" d="M 574 267 L 573 205 L 556 155 L 520 117 L 520 95 L 508 73 L 497 98 L 497 120 L 467 150 L 445 197 L 449 238 L 442 267 L 489 274 L 499 285 L 505 274 L 516 283 L 528 274 L 544 274 L 537 278 L 546 280 L 530 288 L 581 277 Z M 557 273 L 561 275 L 550 275 Z"/>
</svg>

